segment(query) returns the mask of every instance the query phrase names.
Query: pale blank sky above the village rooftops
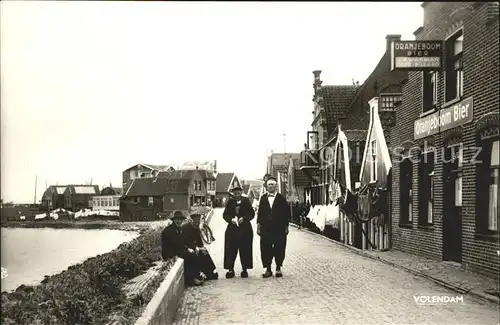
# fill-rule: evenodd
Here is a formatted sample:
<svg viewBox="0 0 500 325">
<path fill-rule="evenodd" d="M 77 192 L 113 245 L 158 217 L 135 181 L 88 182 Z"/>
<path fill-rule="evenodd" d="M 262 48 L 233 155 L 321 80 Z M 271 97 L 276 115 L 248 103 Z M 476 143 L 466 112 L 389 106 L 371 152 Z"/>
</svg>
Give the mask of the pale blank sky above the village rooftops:
<svg viewBox="0 0 500 325">
<path fill-rule="evenodd" d="M 260 178 L 303 148 L 312 71 L 363 83 L 420 4 L 1 1 L 1 197 L 120 186 L 138 162 Z"/>
</svg>

